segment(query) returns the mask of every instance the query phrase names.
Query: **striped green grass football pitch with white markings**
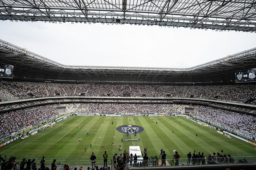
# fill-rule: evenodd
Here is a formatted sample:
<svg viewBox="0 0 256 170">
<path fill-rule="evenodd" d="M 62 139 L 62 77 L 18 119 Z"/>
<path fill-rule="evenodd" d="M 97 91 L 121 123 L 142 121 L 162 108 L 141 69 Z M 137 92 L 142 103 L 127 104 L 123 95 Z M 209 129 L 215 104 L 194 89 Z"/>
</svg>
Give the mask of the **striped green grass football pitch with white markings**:
<svg viewBox="0 0 256 170">
<path fill-rule="evenodd" d="M 115 121 L 117 118 L 117 122 Z M 188 152 L 204 152 L 205 156 L 213 152 L 230 154 L 233 157 L 255 156 L 255 146 L 239 140 L 231 139 L 208 127 L 199 127 L 197 123 L 179 116 L 70 116 L 54 124 L 53 128 L 28 138 L 17 139 L 10 144 L 0 147 L 0 154 L 7 154 L 7 159 L 14 155 L 20 162 L 22 158 L 37 159 L 37 163 L 45 156 L 46 163 L 51 164 L 53 159 L 57 163 L 89 164 L 92 152 L 96 155 L 97 163 L 103 162 L 103 153 L 107 151 L 108 162 L 114 153 L 120 154 L 128 151 L 129 146 L 140 146 L 144 151 L 147 147 L 148 157 L 160 156 L 160 149 L 163 149 L 167 157 L 173 158 L 173 150 L 178 151 L 181 158 L 186 158 Z M 137 120 L 138 119 L 138 120 Z M 151 119 L 151 120 L 150 120 Z M 104 123 L 103 123 L 104 121 Z M 111 124 L 113 121 L 113 125 Z M 158 125 L 156 124 L 158 122 Z M 121 125 L 138 125 L 145 129 L 142 133 L 126 134 L 116 130 Z M 187 125 L 189 128 L 187 128 Z M 62 129 L 63 127 L 63 129 Z M 87 131 L 89 134 L 87 135 Z M 173 131 L 173 133 L 172 133 Z M 96 132 L 96 136 L 95 133 Z M 195 137 L 195 134 L 198 137 Z M 78 142 L 80 135 L 81 142 Z M 99 136 L 101 140 L 99 140 Z M 116 148 L 113 147 L 113 137 Z M 124 139 L 121 142 L 121 138 Z M 125 141 L 125 139 L 140 139 L 140 141 Z M 92 143 L 92 147 L 90 147 Z M 102 149 L 102 144 L 104 148 Z M 122 151 L 119 151 L 119 145 Z M 86 147 L 86 151 L 85 151 Z"/>
</svg>

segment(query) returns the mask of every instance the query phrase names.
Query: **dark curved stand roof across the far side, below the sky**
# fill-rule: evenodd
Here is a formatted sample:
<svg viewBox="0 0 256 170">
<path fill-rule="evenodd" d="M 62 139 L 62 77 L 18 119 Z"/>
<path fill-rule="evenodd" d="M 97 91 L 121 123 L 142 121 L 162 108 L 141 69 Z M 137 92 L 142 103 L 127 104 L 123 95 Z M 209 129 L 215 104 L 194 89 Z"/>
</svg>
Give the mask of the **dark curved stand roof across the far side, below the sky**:
<svg viewBox="0 0 256 170">
<path fill-rule="evenodd" d="M 235 71 L 256 68 L 256 48 L 190 68 L 71 66 L 54 62 L 0 40 L 0 63 L 14 66 L 15 81 L 153 85 L 233 84 Z"/>
</svg>

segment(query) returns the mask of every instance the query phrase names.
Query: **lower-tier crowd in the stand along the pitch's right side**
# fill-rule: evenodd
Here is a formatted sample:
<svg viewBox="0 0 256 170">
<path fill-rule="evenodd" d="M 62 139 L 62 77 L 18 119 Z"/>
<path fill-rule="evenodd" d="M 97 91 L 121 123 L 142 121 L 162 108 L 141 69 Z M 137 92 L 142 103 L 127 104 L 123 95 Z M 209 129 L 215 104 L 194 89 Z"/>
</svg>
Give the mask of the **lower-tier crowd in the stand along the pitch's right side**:
<svg viewBox="0 0 256 170">
<path fill-rule="evenodd" d="M 205 106 L 194 106 L 193 115 L 232 129 L 243 130 L 253 135 L 256 132 L 256 117 L 252 115 Z"/>
</svg>

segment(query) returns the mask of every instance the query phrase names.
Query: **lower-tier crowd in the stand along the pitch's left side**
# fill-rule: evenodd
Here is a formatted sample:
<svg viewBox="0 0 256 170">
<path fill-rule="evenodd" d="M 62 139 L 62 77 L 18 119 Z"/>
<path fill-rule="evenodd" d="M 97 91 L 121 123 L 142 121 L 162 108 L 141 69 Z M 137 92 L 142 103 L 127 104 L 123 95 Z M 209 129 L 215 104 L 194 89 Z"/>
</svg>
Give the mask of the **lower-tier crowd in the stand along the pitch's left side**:
<svg viewBox="0 0 256 170">
<path fill-rule="evenodd" d="M 25 109 L 1 113 L 0 136 L 8 135 L 22 128 L 28 127 L 29 124 L 46 120 L 54 115 L 58 115 L 56 104 L 29 107 Z"/>
</svg>

